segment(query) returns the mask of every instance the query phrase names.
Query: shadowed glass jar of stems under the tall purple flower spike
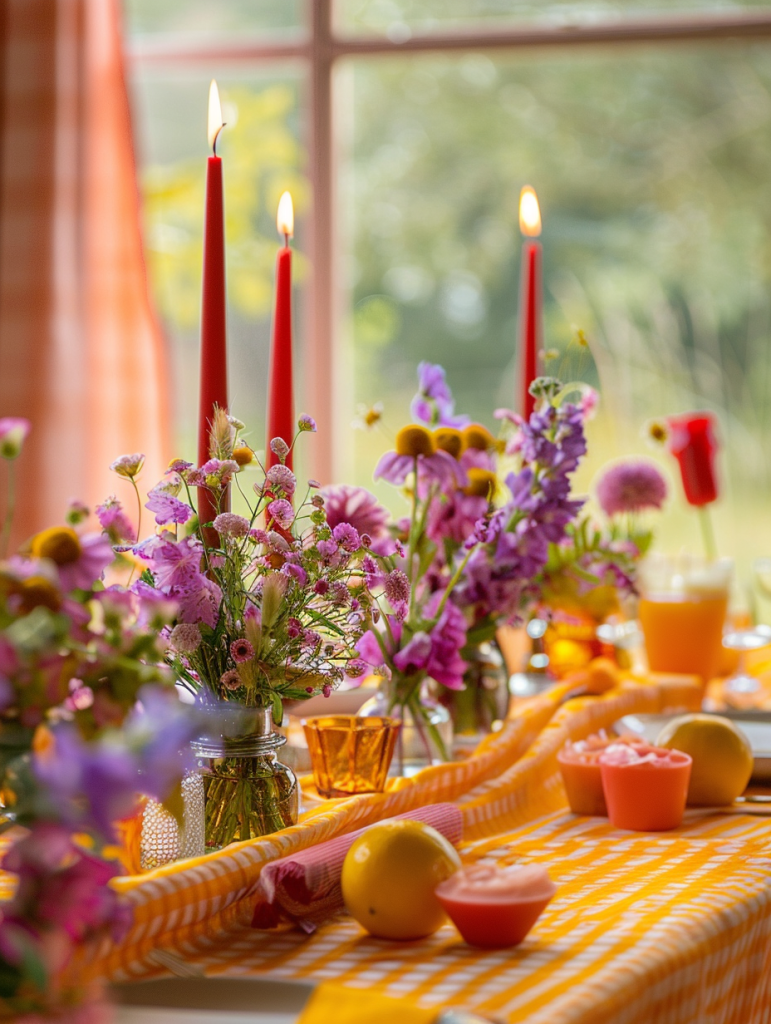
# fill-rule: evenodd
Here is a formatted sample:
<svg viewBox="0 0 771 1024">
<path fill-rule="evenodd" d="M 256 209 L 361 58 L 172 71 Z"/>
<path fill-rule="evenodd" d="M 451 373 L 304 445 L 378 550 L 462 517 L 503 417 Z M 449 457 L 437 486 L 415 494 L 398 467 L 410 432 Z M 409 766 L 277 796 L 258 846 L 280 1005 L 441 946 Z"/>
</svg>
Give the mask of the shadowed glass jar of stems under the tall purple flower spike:
<svg viewBox="0 0 771 1024">
<path fill-rule="evenodd" d="M 443 690 L 441 702 L 449 710 L 456 746 L 479 740 L 494 722 L 506 718 L 509 706 L 508 673 L 498 645 L 490 641 L 463 651 L 468 669 L 465 690 Z"/>
</svg>

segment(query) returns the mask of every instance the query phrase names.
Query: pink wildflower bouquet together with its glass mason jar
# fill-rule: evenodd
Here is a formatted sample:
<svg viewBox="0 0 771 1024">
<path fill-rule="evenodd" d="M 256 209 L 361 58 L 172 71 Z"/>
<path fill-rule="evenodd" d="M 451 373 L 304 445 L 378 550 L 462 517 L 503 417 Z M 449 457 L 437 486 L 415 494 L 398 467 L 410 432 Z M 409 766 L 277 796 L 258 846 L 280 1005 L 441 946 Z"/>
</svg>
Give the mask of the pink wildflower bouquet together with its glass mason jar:
<svg viewBox="0 0 771 1024">
<path fill-rule="evenodd" d="M 167 664 L 199 705 L 218 711 L 216 727 L 196 748 L 211 848 L 294 823 L 296 779 L 276 762 L 284 740 L 270 719 L 281 724 L 285 701 L 329 696 L 346 675 L 363 676 L 356 643 L 379 613 L 375 595 L 389 585 L 373 538 L 350 522 L 330 522 L 314 481 L 298 490 L 288 457 L 301 433 L 315 430 L 310 417 L 300 417 L 291 446 L 271 440 L 267 467 L 243 429 L 215 411 L 211 458 L 199 467 L 172 462 L 146 502 L 157 530 L 130 546 L 143 566 L 132 591 L 176 607 Z M 114 468 L 135 487 L 140 465 L 140 457 L 126 456 Z M 256 480 L 248 486 L 251 470 Z M 211 522 L 198 521 L 197 489 L 216 510 Z M 235 489 L 245 515 L 228 510 Z M 113 513 L 118 508 L 111 503 Z M 233 712 L 224 731 L 222 703 Z"/>
</svg>

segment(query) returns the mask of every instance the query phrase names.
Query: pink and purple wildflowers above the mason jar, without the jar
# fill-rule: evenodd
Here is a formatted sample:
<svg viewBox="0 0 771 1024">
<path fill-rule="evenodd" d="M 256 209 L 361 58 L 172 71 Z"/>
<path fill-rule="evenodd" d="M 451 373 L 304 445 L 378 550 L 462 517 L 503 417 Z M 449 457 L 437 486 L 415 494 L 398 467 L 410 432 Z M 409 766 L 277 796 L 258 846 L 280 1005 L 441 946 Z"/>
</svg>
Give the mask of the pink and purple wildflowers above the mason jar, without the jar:
<svg viewBox="0 0 771 1024">
<path fill-rule="evenodd" d="M 300 418 L 298 435 L 314 429 Z M 270 442 L 277 462 L 265 469 L 242 430 L 217 411 L 212 458 L 201 467 L 172 462 L 151 489 L 146 508 L 159 528 L 133 546 L 144 569 L 132 590 L 176 605 L 166 659 L 184 686 L 204 702 L 271 708 L 281 723 L 284 700 L 329 694 L 360 669 L 355 644 L 372 604 L 362 567 L 372 539 L 348 522 L 330 525 L 314 481 L 298 500 L 281 438 Z M 133 481 L 135 464 L 115 466 Z M 247 488 L 248 468 L 257 480 Z M 247 515 L 226 510 L 229 487 L 244 497 Z M 220 510 L 210 523 L 197 520 L 195 488 L 210 492 Z"/>
</svg>

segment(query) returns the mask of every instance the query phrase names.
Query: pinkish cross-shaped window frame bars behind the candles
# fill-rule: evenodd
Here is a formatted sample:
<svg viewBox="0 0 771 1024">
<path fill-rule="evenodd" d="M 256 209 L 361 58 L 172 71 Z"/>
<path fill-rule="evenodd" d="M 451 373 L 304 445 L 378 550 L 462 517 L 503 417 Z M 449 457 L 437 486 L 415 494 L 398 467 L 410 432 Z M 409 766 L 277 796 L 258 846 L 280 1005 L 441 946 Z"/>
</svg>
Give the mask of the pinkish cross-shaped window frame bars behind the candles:
<svg viewBox="0 0 771 1024">
<path fill-rule="evenodd" d="M 306 30 L 275 36 L 192 41 L 182 34 L 139 37 L 127 47 L 131 63 L 161 67 L 197 63 L 300 63 L 305 72 L 307 141 L 312 203 L 308 222 L 309 284 L 302 408 L 312 413 L 318 436 L 311 475 L 329 483 L 340 471 L 335 444 L 336 410 L 345 408 L 336 393 L 340 348 L 335 338 L 342 323 L 342 290 L 333 243 L 336 222 L 337 144 L 334 121 L 335 65 L 346 57 L 399 56 L 489 50 L 604 48 L 651 43 L 755 41 L 771 38 L 771 9 L 719 14 L 678 14 L 608 19 L 592 25 L 496 25 L 483 29 L 432 31 L 404 39 L 345 35 L 335 30 L 334 0 L 305 0 Z"/>
</svg>

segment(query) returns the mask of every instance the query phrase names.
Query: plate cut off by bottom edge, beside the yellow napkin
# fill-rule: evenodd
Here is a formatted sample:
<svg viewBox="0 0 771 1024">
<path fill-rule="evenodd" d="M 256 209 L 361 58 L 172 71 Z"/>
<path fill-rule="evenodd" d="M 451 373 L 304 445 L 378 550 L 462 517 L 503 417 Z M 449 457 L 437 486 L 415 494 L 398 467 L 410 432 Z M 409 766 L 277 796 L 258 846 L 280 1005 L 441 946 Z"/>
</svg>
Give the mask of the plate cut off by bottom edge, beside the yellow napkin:
<svg viewBox="0 0 771 1024">
<path fill-rule="evenodd" d="M 296 1024 L 314 987 L 263 978 L 160 978 L 110 991 L 115 1024 Z"/>
</svg>

